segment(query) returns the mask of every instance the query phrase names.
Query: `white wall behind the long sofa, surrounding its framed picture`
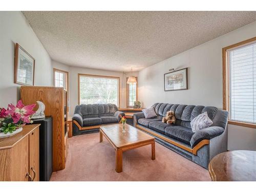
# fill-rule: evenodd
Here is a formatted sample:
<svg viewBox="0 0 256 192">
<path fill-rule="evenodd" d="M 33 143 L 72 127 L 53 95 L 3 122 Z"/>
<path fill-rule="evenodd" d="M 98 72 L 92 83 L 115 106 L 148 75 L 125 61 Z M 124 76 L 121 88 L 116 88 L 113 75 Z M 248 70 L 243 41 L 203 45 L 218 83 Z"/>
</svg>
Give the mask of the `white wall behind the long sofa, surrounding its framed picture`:
<svg viewBox="0 0 256 192">
<path fill-rule="evenodd" d="M 216 106 L 222 109 L 222 48 L 256 36 L 256 22 L 170 57 L 139 72 L 139 100 Z M 164 91 L 163 74 L 188 67 L 188 90 Z M 228 150 L 255 150 L 256 129 L 228 125 Z"/>
</svg>

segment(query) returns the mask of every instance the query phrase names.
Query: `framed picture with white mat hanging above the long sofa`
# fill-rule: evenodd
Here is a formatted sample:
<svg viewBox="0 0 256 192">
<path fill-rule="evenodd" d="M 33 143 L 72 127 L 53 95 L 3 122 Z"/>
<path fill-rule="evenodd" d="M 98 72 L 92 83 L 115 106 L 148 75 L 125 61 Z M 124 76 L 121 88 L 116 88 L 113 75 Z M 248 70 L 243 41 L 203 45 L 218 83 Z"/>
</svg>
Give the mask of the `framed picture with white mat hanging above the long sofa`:
<svg viewBox="0 0 256 192">
<path fill-rule="evenodd" d="M 187 68 L 164 74 L 164 91 L 187 89 Z"/>
</svg>

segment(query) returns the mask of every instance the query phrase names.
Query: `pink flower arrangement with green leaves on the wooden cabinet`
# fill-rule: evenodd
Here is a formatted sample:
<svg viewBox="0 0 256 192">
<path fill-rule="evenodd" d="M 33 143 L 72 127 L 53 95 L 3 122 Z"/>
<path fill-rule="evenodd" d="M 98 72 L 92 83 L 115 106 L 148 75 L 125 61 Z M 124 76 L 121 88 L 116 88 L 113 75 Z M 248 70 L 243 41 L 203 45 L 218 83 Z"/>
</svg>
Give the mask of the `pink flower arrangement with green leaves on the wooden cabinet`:
<svg viewBox="0 0 256 192">
<path fill-rule="evenodd" d="M 26 123 L 32 123 L 31 115 L 35 112 L 33 108 L 36 104 L 25 106 L 22 100 L 19 100 L 15 105 L 9 104 L 8 108 L 0 108 L 0 134 L 12 134 Z"/>
</svg>

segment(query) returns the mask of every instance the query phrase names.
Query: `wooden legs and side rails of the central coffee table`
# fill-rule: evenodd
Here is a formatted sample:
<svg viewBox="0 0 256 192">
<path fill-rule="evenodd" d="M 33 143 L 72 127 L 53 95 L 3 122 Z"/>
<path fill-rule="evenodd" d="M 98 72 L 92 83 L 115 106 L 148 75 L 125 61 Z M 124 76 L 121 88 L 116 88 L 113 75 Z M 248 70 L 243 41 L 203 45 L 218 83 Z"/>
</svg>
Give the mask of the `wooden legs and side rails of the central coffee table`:
<svg viewBox="0 0 256 192">
<path fill-rule="evenodd" d="M 133 127 L 133 128 L 136 129 L 135 127 Z M 129 145 L 124 145 L 124 146 L 121 146 L 121 147 L 117 147 L 115 145 L 115 143 L 113 143 L 113 141 L 100 129 L 99 130 L 99 142 L 102 142 L 103 136 L 115 148 L 115 151 L 116 151 L 116 172 L 117 173 L 122 172 L 123 152 L 125 152 L 125 151 L 133 150 L 134 148 L 138 148 L 138 147 L 141 147 L 141 146 L 145 146 L 145 145 L 150 145 L 151 144 L 151 159 L 152 160 L 156 159 L 156 155 L 155 155 L 155 138 L 152 138 L 150 140 L 145 140 L 145 141 L 131 143 Z"/>
</svg>

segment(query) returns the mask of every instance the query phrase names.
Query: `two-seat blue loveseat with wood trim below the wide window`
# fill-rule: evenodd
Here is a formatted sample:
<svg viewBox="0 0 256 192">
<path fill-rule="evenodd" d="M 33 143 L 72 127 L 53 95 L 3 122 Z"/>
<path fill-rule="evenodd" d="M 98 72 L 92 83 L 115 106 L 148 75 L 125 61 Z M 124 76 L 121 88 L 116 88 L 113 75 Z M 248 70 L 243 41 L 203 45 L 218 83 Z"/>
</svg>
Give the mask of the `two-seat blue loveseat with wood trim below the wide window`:
<svg viewBox="0 0 256 192">
<path fill-rule="evenodd" d="M 123 116 L 124 113 L 118 111 L 115 104 L 77 105 L 72 118 L 73 135 L 98 132 L 102 124 L 118 123 L 119 115 Z"/>
</svg>

